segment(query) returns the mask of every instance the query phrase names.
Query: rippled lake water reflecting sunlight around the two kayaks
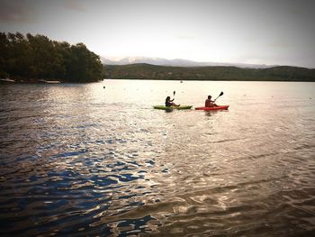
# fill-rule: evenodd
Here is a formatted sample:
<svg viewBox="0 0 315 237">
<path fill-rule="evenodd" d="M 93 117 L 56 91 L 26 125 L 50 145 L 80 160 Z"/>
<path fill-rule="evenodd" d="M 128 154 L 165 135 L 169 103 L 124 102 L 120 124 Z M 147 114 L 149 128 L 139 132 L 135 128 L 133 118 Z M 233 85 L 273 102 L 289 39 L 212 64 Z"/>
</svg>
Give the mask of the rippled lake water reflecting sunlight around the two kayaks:
<svg viewBox="0 0 315 237">
<path fill-rule="evenodd" d="M 105 87 L 105 88 L 103 88 Z M 166 96 L 227 111 L 167 113 Z M 0 85 L 0 235 L 310 236 L 315 83 Z"/>
</svg>

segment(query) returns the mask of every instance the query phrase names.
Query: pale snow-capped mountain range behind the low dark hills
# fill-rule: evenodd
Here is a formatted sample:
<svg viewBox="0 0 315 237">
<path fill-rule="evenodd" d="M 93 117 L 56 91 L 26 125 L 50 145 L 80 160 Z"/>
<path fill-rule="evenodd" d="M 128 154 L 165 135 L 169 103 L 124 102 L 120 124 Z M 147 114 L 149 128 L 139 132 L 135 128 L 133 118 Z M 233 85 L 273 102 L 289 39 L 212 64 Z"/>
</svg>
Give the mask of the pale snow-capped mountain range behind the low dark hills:
<svg viewBox="0 0 315 237">
<path fill-rule="evenodd" d="M 220 63 L 220 62 L 198 62 L 186 59 L 162 59 L 162 58 L 147 58 L 147 57 L 126 57 L 119 60 L 111 60 L 101 58 L 104 65 L 129 65 L 135 63 L 147 63 L 157 66 L 172 66 L 172 67 L 206 67 L 206 66 L 229 66 L 238 68 L 272 68 L 275 65 L 265 64 L 247 64 L 247 63 Z"/>
</svg>

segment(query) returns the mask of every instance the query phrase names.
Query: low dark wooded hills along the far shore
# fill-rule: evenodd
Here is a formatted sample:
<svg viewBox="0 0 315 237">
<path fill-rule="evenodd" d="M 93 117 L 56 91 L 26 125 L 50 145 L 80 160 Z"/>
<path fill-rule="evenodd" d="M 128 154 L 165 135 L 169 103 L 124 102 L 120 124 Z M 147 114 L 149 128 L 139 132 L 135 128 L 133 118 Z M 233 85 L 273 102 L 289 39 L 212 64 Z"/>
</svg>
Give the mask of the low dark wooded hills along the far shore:
<svg viewBox="0 0 315 237">
<path fill-rule="evenodd" d="M 149 64 L 105 65 L 104 77 L 168 80 L 261 80 L 315 81 L 315 69 L 279 66 L 273 68 L 166 67 Z"/>
</svg>

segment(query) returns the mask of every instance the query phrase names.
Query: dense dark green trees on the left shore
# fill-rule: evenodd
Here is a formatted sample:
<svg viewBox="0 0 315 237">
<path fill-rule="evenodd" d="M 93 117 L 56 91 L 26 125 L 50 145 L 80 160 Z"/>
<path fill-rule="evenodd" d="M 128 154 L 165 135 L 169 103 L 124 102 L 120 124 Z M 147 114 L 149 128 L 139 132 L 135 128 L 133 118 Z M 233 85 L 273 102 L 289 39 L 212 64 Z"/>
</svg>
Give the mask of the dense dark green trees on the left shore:
<svg viewBox="0 0 315 237">
<path fill-rule="evenodd" d="M 103 78 L 103 64 L 84 43 L 70 45 L 40 34 L 0 32 L 0 77 L 94 82 Z"/>
</svg>

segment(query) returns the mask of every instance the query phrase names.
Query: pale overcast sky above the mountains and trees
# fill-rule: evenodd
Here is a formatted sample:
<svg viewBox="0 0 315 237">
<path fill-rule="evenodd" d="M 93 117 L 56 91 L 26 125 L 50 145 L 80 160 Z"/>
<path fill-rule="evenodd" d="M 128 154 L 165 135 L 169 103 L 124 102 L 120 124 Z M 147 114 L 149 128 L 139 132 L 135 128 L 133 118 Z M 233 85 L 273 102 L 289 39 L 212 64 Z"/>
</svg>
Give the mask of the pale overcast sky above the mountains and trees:
<svg viewBox="0 0 315 237">
<path fill-rule="evenodd" d="M 313 0 L 0 0 L 0 32 L 151 57 L 315 68 Z"/>
</svg>

